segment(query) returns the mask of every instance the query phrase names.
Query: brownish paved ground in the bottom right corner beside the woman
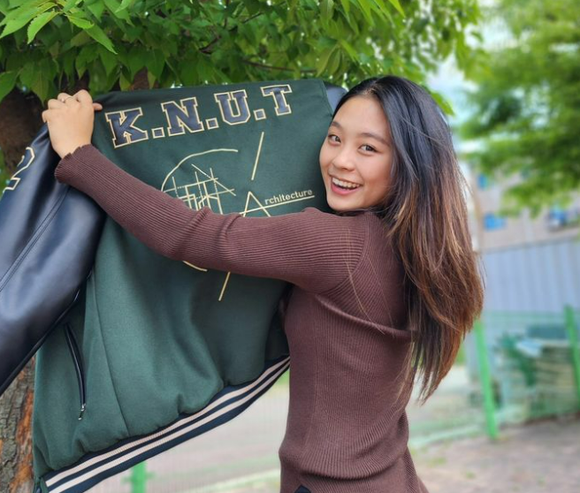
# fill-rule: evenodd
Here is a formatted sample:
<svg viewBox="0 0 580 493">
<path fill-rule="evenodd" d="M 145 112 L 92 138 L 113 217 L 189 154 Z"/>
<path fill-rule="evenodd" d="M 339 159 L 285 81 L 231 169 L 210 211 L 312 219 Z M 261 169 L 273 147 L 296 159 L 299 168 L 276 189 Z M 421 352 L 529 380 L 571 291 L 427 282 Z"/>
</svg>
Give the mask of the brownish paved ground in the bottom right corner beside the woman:
<svg viewBox="0 0 580 493">
<path fill-rule="evenodd" d="M 412 451 L 430 493 L 578 493 L 580 414 Z"/>
</svg>

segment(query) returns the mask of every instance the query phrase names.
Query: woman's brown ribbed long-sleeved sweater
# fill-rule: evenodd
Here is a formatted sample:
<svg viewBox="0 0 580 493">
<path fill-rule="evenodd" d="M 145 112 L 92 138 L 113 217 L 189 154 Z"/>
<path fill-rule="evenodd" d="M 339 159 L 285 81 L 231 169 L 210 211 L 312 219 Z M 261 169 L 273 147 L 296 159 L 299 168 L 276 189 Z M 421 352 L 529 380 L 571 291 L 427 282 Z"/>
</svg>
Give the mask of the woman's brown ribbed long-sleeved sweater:
<svg viewBox="0 0 580 493">
<path fill-rule="evenodd" d="M 410 342 L 401 330 L 403 273 L 377 216 L 195 211 L 91 145 L 66 155 L 55 176 L 159 254 L 294 284 L 282 493 L 300 485 L 313 493 L 426 493 L 408 451 L 411 389 L 395 399 Z"/>
</svg>

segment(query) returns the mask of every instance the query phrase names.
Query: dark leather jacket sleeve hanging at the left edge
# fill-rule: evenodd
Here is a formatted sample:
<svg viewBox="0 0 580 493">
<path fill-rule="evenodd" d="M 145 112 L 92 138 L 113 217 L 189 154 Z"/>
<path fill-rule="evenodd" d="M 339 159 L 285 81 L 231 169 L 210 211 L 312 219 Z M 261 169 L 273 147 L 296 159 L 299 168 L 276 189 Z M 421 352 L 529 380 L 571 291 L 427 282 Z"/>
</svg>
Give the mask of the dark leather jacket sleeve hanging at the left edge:
<svg viewBox="0 0 580 493">
<path fill-rule="evenodd" d="M 76 299 L 104 213 L 54 178 L 46 125 L 0 200 L 0 395 Z"/>
</svg>

